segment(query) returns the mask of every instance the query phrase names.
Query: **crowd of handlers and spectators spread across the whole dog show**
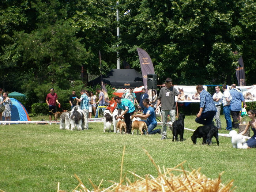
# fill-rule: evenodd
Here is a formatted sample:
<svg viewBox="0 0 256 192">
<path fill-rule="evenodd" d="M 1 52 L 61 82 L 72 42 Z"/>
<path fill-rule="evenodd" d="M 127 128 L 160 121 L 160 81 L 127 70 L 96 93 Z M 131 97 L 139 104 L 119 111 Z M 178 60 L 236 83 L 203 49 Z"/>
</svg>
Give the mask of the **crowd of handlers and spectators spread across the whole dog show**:
<svg viewBox="0 0 256 192">
<path fill-rule="evenodd" d="M 133 93 L 134 87 L 129 88 L 129 92 L 124 95 L 124 98 L 118 96 L 114 97 L 114 101 L 117 103 L 118 114 L 117 118 L 124 117 L 125 124 L 127 125 L 127 133 L 131 133 L 132 121 L 130 116 L 135 113 L 135 105 L 137 104 L 140 113 L 135 117 L 143 118 L 148 126 L 148 134 L 161 134 L 161 140 L 167 138 L 167 118 L 170 117 L 170 122 L 173 123 L 176 117 L 176 104 L 175 96 L 181 98 L 181 93 L 172 84 L 172 79 L 167 78 L 163 83 L 162 88 L 157 95 L 156 90 L 151 90 L 152 94 L 146 93 L 146 89 L 142 89 L 139 103 L 136 99 L 135 93 Z M 220 120 L 221 105 L 223 105 L 223 112 L 226 119 L 225 130 L 231 131 L 232 128 L 238 128 L 238 117 L 242 110 L 242 105 L 246 108 L 245 99 L 242 92 L 236 88 L 236 84 L 231 84 L 231 89 L 228 90 L 226 84 L 222 84 L 221 92 L 220 86 L 215 86 L 214 95 L 208 93 L 202 85 L 196 86 L 196 91 L 200 95 L 200 108 L 196 115 L 195 122 L 203 125 L 210 125 L 215 119 L 216 127 L 221 130 L 222 123 Z M 88 118 L 92 117 L 92 113 L 95 118 L 99 116 L 99 113 L 103 114 L 106 106 L 109 106 L 110 99 L 108 93 L 103 89 L 96 89 L 96 95 L 93 91 L 87 91 L 82 89 L 80 91 L 80 97 L 76 95 L 75 90 L 72 91 L 72 95 L 69 97 L 69 103 L 71 109 L 74 106 L 79 105 L 84 113 L 84 119 L 88 122 Z M 11 99 L 8 97 L 8 93 L 3 93 L 3 89 L 0 88 L 0 119 L 5 117 L 5 120 L 11 120 Z M 52 120 L 52 114 L 56 112 L 56 106 L 60 103 L 58 96 L 54 92 L 54 88 L 50 88 L 50 93 L 46 95 L 46 103 L 49 106 L 49 120 Z M 157 127 L 156 113 L 160 110 L 161 106 L 161 120 L 162 129 L 155 129 Z M 231 121 L 231 117 L 233 121 Z M 251 127 L 253 136 L 248 140 L 248 147 L 256 147 L 256 110 L 249 110 L 249 118 L 244 131 L 241 134 L 245 134 Z M 9 123 L 10 125 L 10 123 Z M 84 129 L 88 129 L 88 123 L 85 123 Z"/>
</svg>

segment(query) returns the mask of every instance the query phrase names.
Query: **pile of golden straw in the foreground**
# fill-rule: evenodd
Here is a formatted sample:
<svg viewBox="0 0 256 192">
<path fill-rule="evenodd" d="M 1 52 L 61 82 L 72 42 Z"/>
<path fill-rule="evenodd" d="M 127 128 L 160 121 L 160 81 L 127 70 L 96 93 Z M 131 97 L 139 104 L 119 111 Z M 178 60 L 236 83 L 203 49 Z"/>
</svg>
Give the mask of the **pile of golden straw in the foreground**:
<svg viewBox="0 0 256 192">
<path fill-rule="evenodd" d="M 125 150 L 125 147 L 124 147 Z M 158 177 L 154 178 L 150 174 L 146 175 L 145 178 L 138 176 L 135 173 L 129 172 L 133 174 L 133 176 L 138 177 L 138 180 L 135 182 L 131 182 L 128 178 L 125 178 L 126 184 L 124 185 L 124 179 L 122 177 L 122 167 L 123 167 L 123 160 L 124 160 L 124 151 L 123 151 L 123 158 L 121 162 L 121 174 L 120 174 L 120 182 L 112 182 L 113 184 L 108 188 L 102 188 L 100 189 L 100 185 L 96 186 L 91 182 L 89 179 L 91 185 L 94 188 L 94 192 L 139 192 L 139 191 L 145 191 L 145 192 L 232 192 L 236 187 L 233 189 L 233 181 L 231 180 L 227 185 L 223 185 L 221 183 L 221 174 L 219 174 L 219 177 L 217 179 L 210 179 L 207 178 L 205 175 L 202 175 L 200 173 L 200 168 L 197 170 L 192 170 L 191 172 L 184 170 L 184 167 L 182 164 L 185 162 L 180 163 L 179 165 L 173 167 L 173 168 L 166 168 L 163 167 L 163 173 L 159 166 L 157 166 L 151 157 L 150 154 L 144 149 L 148 157 L 150 158 L 151 162 L 154 164 L 154 166 L 157 168 L 158 171 Z M 181 169 L 178 169 L 177 167 L 180 167 Z M 172 172 L 180 172 L 181 174 L 175 176 Z M 73 190 L 74 192 L 90 192 L 82 183 L 82 181 L 78 178 L 78 176 L 75 174 L 75 177 L 79 181 L 79 185 Z M 65 192 L 63 190 L 59 189 L 60 183 L 58 183 L 58 189 L 57 192 Z"/>
</svg>

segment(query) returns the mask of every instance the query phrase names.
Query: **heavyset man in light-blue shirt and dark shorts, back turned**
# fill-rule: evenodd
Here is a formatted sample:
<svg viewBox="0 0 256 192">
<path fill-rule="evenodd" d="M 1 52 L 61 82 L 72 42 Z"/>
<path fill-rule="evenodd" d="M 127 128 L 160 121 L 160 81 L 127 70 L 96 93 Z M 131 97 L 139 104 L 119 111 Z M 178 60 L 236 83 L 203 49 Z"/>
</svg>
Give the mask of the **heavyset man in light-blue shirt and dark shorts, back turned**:
<svg viewBox="0 0 256 192">
<path fill-rule="evenodd" d="M 236 89 L 236 84 L 231 84 L 231 90 L 229 91 L 229 93 L 232 97 L 230 101 L 230 106 L 231 106 L 230 114 L 233 119 L 232 127 L 239 128 L 237 118 L 238 118 L 239 112 L 242 110 L 242 102 L 244 104 L 244 107 L 246 107 L 244 96 L 240 90 Z"/>
</svg>

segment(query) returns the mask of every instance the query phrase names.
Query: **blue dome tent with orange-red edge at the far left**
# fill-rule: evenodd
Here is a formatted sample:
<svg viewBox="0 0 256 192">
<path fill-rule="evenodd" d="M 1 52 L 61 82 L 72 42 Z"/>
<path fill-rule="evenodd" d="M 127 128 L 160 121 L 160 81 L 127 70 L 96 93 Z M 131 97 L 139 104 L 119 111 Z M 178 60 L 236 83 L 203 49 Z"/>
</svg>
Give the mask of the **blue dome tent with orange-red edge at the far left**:
<svg viewBox="0 0 256 192">
<path fill-rule="evenodd" d="M 11 120 L 12 121 L 31 121 L 25 107 L 17 99 L 14 99 L 14 98 L 10 98 L 10 99 L 12 101 Z M 4 120 L 4 117 L 3 117 L 3 120 Z"/>
</svg>

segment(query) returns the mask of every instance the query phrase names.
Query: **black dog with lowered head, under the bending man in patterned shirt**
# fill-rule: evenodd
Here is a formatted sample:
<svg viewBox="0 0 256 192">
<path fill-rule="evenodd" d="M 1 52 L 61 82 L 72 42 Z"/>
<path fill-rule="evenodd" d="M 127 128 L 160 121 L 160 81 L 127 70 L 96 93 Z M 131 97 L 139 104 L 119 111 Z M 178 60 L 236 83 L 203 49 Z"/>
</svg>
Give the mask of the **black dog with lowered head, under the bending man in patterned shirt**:
<svg viewBox="0 0 256 192">
<path fill-rule="evenodd" d="M 217 144 L 219 146 L 219 132 L 218 128 L 215 125 L 203 125 L 200 127 L 197 127 L 196 131 L 194 131 L 193 135 L 191 136 L 191 140 L 194 144 L 196 144 L 196 138 L 203 138 L 203 143 L 210 145 L 211 144 L 211 138 L 214 136 Z"/>
</svg>

